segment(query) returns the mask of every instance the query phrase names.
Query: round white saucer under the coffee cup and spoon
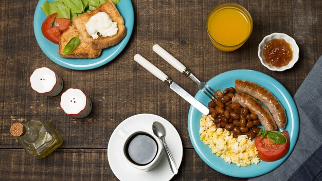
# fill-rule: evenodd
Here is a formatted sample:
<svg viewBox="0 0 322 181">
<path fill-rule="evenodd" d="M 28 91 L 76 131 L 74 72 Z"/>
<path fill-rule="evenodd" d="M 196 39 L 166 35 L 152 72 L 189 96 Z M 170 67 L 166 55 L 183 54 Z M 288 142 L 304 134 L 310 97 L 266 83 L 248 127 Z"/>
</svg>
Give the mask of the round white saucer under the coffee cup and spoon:
<svg viewBox="0 0 322 181">
<path fill-rule="evenodd" d="M 122 180 L 140 180 L 140 181 L 164 181 L 170 180 L 174 174 L 171 172 L 169 162 L 166 155 L 163 156 L 160 163 L 152 170 L 145 172 L 130 166 L 121 156 L 122 139 L 117 136 L 117 131 L 121 128 L 126 132 L 141 127 L 152 132 L 152 124 L 154 121 L 162 123 L 166 129 L 166 143 L 174 158 L 176 166 L 179 168 L 183 156 L 183 146 L 180 135 L 174 126 L 166 119 L 153 114 L 138 114 L 122 121 L 111 135 L 108 145 L 108 159 L 110 167 L 115 176 Z"/>
</svg>

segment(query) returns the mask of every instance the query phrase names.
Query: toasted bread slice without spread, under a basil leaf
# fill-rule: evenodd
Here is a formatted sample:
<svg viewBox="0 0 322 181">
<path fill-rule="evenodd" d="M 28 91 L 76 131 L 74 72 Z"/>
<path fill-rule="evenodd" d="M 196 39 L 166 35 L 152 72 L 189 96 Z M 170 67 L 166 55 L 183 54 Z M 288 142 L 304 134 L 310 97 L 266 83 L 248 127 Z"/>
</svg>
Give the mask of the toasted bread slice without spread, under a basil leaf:
<svg viewBox="0 0 322 181">
<path fill-rule="evenodd" d="M 66 44 L 73 37 L 77 37 L 79 35 L 78 30 L 74 25 L 70 26 L 63 34 L 60 36 L 59 45 L 58 45 L 58 53 L 60 56 L 65 58 L 95 58 L 101 55 L 101 49 L 93 49 L 90 44 L 86 43 L 80 36 L 79 45 L 75 48 L 74 51 L 70 52 L 67 55 L 63 55 L 63 50 Z"/>
</svg>

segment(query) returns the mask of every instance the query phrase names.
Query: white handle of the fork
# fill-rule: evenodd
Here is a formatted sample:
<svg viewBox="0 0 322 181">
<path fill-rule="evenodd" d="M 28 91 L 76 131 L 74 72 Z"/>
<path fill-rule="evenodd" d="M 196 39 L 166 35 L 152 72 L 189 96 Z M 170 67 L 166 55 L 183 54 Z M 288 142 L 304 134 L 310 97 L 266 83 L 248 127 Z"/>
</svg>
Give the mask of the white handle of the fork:
<svg viewBox="0 0 322 181">
<path fill-rule="evenodd" d="M 172 65 L 175 69 L 177 69 L 181 73 L 183 73 L 186 70 L 186 67 L 181 62 L 176 60 L 176 58 L 171 56 L 170 53 L 168 53 L 168 51 L 160 47 L 158 44 L 153 45 L 152 49 L 154 52 L 157 53 L 157 55 L 165 59 L 165 61 L 167 61 L 170 65 Z"/>
</svg>

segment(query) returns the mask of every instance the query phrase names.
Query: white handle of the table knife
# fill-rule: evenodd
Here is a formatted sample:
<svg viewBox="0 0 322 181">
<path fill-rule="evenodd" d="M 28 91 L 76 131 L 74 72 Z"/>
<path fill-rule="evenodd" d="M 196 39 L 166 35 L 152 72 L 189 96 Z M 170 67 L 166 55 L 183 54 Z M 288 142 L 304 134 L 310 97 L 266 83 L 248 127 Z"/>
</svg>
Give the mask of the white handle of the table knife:
<svg viewBox="0 0 322 181">
<path fill-rule="evenodd" d="M 142 67 L 144 67 L 148 71 L 150 71 L 150 73 L 153 74 L 155 77 L 157 77 L 158 79 L 162 80 L 163 82 L 168 79 L 168 76 L 165 73 L 163 73 L 163 71 L 158 69 L 156 66 L 154 66 L 151 62 L 149 62 L 147 59 L 145 59 L 141 55 L 136 54 L 134 56 L 134 60 L 138 64 L 142 65 Z"/>
</svg>

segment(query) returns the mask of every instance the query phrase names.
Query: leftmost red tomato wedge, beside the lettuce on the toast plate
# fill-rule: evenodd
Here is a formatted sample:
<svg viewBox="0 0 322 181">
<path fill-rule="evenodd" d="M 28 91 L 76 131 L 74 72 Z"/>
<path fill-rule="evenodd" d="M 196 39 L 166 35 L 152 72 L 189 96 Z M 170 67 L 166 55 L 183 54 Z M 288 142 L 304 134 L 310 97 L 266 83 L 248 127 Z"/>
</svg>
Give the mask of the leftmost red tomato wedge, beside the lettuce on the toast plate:
<svg viewBox="0 0 322 181">
<path fill-rule="evenodd" d="M 53 23 L 53 21 L 55 21 L 56 17 L 57 17 L 57 13 L 53 13 L 53 14 L 47 16 L 45 21 L 41 25 L 41 32 L 43 33 L 44 37 L 46 39 L 48 39 L 50 42 L 58 44 L 59 38 L 58 38 L 58 41 L 57 41 L 57 32 L 49 30 L 50 28 L 52 28 L 52 23 Z M 53 33 L 56 33 L 56 34 L 49 34 L 50 32 L 53 32 Z"/>
</svg>

